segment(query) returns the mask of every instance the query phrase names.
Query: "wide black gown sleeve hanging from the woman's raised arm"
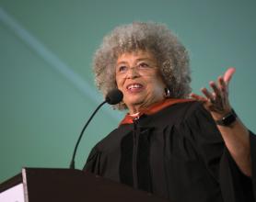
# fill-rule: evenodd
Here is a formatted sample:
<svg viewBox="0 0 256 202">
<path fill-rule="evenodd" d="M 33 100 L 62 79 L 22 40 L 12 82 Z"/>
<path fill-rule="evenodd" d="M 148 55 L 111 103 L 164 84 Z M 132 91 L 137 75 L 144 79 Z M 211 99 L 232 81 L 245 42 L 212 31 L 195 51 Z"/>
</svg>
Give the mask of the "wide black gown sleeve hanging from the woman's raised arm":
<svg viewBox="0 0 256 202">
<path fill-rule="evenodd" d="M 256 136 L 250 132 L 252 176 L 242 174 L 231 157 L 211 115 L 203 106 L 193 111 L 182 129 L 189 133 L 192 145 L 205 168 L 220 185 L 226 202 L 256 201 Z"/>
</svg>

